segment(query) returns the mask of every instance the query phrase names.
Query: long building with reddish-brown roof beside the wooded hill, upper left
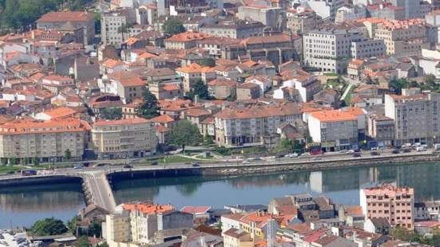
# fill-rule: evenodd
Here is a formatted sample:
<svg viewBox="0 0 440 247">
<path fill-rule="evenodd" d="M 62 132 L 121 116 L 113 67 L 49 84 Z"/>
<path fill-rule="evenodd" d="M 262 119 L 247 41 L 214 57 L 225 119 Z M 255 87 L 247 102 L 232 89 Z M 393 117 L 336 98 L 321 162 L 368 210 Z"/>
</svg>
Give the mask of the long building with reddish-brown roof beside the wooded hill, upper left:
<svg viewBox="0 0 440 247">
<path fill-rule="evenodd" d="M 94 18 L 91 12 L 49 12 L 42 15 L 35 23 L 37 29 L 74 31 L 78 33 L 76 40 L 83 44 L 91 44 L 95 35 Z"/>
</svg>

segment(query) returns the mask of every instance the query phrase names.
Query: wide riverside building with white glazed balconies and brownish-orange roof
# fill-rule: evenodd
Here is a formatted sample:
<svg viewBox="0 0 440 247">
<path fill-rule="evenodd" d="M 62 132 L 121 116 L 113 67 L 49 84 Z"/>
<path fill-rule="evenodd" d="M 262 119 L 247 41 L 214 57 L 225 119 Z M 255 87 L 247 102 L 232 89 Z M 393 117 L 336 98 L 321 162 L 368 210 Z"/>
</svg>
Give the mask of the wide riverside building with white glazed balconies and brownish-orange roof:
<svg viewBox="0 0 440 247">
<path fill-rule="evenodd" d="M 302 122 L 298 104 L 236 105 L 214 115 L 216 142 L 222 146 L 260 143 L 274 145 L 276 128 L 282 123 Z"/>
</svg>

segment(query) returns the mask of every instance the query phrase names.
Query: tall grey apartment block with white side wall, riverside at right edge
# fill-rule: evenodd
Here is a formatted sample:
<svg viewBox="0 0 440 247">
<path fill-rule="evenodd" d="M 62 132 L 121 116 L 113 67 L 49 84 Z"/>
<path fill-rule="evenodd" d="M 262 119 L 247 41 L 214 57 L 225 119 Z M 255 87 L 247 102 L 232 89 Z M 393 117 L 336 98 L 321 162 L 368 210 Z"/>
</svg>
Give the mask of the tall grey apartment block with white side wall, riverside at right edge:
<svg viewBox="0 0 440 247">
<path fill-rule="evenodd" d="M 403 89 L 402 95 L 385 94 L 385 116 L 394 121 L 394 144 L 436 142 L 439 130 L 439 93 Z"/>
</svg>

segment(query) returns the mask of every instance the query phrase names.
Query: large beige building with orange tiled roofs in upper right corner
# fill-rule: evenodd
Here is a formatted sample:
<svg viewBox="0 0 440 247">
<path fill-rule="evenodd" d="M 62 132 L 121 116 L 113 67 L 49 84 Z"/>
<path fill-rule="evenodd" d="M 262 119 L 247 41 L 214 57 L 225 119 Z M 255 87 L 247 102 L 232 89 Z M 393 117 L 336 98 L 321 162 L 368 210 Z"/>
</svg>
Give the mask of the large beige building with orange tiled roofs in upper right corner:
<svg viewBox="0 0 440 247">
<path fill-rule="evenodd" d="M 416 56 L 428 48 L 426 25 L 421 19 L 385 20 L 377 25 L 374 35 L 385 42 L 387 55 Z"/>
</svg>

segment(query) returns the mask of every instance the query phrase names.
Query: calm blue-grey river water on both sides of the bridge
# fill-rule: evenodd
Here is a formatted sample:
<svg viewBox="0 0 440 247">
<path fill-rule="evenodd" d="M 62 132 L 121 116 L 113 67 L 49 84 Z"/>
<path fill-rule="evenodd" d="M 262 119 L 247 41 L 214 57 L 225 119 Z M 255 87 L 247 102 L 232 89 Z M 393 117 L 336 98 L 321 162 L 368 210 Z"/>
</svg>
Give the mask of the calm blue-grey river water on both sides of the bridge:
<svg viewBox="0 0 440 247">
<path fill-rule="evenodd" d="M 160 178 L 113 184 L 117 203 L 153 199 L 176 207 L 267 204 L 291 193 L 325 194 L 335 202 L 358 204 L 359 188 L 388 182 L 415 189 L 417 200 L 440 200 L 440 164 L 378 166 L 258 175 L 243 178 Z M 44 217 L 68 220 L 84 206 L 79 184 L 0 189 L 0 228 L 29 226 Z"/>
</svg>

